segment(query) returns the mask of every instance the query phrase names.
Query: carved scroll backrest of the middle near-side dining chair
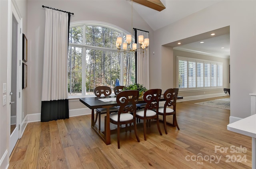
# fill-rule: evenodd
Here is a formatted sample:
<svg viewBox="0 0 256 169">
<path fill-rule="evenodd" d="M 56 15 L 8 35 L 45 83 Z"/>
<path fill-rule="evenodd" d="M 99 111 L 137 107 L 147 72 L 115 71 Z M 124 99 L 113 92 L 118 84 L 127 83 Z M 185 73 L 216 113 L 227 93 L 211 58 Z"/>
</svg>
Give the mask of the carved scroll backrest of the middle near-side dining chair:
<svg viewBox="0 0 256 169">
<path fill-rule="evenodd" d="M 146 110 L 157 110 L 159 108 L 159 100 L 161 98 L 162 89 L 149 89 L 143 94 L 143 99 L 146 102 L 146 106 L 144 108 L 144 112 L 146 113 Z M 144 114 L 145 116 L 146 114 Z"/>
</svg>

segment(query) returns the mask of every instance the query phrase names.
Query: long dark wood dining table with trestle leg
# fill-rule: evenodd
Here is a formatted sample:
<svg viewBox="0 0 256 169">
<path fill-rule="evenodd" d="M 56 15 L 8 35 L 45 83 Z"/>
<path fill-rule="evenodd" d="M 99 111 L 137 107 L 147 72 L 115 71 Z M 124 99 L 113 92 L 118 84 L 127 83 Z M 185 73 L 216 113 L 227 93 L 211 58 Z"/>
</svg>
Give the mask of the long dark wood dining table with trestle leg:
<svg viewBox="0 0 256 169">
<path fill-rule="evenodd" d="M 85 106 L 92 110 L 92 118 L 91 118 L 91 127 L 92 129 L 100 136 L 100 138 L 106 143 L 106 145 L 110 144 L 110 112 L 109 108 L 113 106 L 118 106 L 116 100 L 104 102 L 99 100 L 101 98 L 116 98 L 116 96 L 106 96 L 106 97 L 84 97 L 80 98 L 80 102 L 82 102 Z M 182 96 L 178 96 L 178 99 L 182 99 Z M 160 101 L 164 101 L 164 97 L 162 96 Z M 143 98 L 138 99 L 138 104 L 145 103 Z M 94 120 L 94 109 L 96 108 L 107 108 L 106 114 L 106 131 L 102 132 L 100 128 L 95 126 Z"/>
</svg>

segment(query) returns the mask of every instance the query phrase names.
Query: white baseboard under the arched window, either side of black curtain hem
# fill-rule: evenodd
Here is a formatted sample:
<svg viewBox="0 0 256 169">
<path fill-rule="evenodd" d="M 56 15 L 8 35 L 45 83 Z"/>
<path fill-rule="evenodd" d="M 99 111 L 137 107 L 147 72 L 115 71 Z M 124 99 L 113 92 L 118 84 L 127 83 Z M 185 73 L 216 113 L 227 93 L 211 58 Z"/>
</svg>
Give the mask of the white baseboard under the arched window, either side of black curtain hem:
<svg viewBox="0 0 256 169">
<path fill-rule="evenodd" d="M 69 110 L 70 117 L 82 116 L 82 115 L 87 115 L 91 113 L 92 113 L 92 110 L 90 108 L 78 108 L 78 109 Z M 28 123 L 41 121 L 41 113 L 28 114 L 26 117 L 27 117 Z"/>
</svg>

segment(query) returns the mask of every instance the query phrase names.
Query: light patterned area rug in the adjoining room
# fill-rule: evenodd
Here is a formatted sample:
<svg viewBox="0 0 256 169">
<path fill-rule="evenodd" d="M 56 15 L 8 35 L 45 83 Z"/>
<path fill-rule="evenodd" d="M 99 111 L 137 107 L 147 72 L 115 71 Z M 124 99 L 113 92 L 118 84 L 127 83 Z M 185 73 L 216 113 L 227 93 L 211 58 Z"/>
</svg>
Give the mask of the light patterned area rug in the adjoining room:
<svg viewBox="0 0 256 169">
<path fill-rule="evenodd" d="M 210 107 L 217 107 L 217 108 L 224 108 L 224 109 L 230 110 L 230 98 L 215 99 L 215 100 L 199 102 L 195 104 L 200 104 L 203 106 L 210 106 Z"/>
</svg>

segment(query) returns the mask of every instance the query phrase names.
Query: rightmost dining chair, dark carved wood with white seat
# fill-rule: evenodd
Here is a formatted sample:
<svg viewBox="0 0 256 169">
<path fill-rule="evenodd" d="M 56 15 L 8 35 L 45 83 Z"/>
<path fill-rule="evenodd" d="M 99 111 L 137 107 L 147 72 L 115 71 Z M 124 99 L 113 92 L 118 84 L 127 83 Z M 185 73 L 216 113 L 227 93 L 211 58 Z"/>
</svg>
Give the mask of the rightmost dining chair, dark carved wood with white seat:
<svg viewBox="0 0 256 169">
<path fill-rule="evenodd" d="M 172 125 L 174 127 L 177 127 L 178 130 L 180 130 L 177 123 L 177 118 L 176 118 L 176 101 L 178 97 L 178 92 L 179 92 L 178 88 L 169 88 L 165 90 L 164 99 L 166 101 L 164 103 L 164 106 L 159 106 L 158 108 L 158 114 L 163 116 L 165 134 L 167 134 L 166 116 L 169 116 L 169 115 L 173 115 Z"/>
</svg>

